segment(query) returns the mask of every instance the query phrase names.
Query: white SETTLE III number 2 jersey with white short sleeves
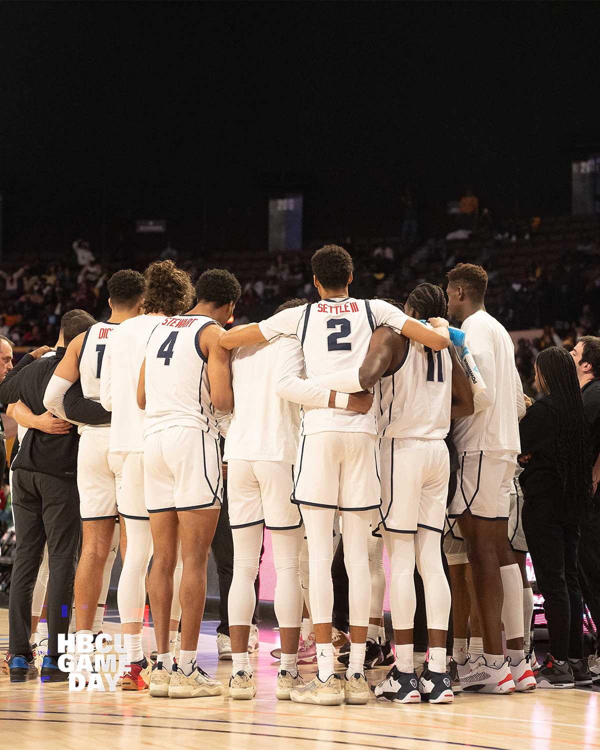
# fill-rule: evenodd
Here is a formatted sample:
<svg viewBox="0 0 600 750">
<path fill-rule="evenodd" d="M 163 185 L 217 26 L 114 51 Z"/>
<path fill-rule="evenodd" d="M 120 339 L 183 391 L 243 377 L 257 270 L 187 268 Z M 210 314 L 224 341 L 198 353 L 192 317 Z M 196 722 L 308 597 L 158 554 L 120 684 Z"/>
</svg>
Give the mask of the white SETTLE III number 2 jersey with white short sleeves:
<svg viewBox="0 0 600 750">
<path fill-rule="evenodd" d="M 348 297 L 290 308 L 259 325 L 267 340 L 278 334 L 299 338 L 306 377 L 318 383 L 319 376 L 359 368 L 377 326 L 389 325 L 401 332 L 406 320 L 403 312 L 383 300 Z M 367 414 L 308 407 L 303 412 L 302 435 L 329 431 L 377 434 L 374 407 Z"/>
</svg>

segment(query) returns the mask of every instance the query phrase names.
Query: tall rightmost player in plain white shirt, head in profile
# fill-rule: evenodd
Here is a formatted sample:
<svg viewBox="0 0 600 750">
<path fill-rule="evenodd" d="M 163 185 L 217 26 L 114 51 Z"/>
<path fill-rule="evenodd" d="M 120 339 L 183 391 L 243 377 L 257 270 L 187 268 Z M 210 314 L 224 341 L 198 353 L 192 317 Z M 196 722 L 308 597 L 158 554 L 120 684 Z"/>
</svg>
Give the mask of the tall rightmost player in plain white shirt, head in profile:
<svg viewBox="0 0 600 750">
<path fill-rule="evenodd" d="M 463 690 L 511 693 L 535 688 L 523 652 L 523 581 L 508 544 L 508 508 L 520 451 L 517 402 L 523 389 L 508 332 L 484 308 L 487 274 L 459 263 L 448 274 L 449 316 L 460 321 L 486 389 L 475 396 L 475 413 L 455 422 L 460 456 L 455 497 L 448 508 L 458 518 L 472 567 L 483 655 L 461 675 Z M 502 622 L 506 636 L 502 653 Z"/>
</svg>

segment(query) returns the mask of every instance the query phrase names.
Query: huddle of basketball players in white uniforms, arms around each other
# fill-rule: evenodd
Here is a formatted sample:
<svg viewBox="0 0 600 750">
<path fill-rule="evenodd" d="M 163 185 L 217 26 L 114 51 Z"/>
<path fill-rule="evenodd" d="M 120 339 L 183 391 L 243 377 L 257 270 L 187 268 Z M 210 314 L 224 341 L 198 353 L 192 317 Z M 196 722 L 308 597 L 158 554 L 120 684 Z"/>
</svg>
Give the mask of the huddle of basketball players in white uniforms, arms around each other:
<svg viewBox="0 0 600 750">
<path fill-rule="evenodd" d="M 77 633 L 97 631 L 98 603 L 106 598 L 103 571 L 120 517 L 118 611 L 130 636 L 122 687 L 149 688 L 156 697 L 223 693 L 223 684 L 196 663 L 196 649 L 223 499 L 225 437 L 234 546 L 229 697 L 257 694 L 248 640 L 264 527 L 277 573 L 279 700 L 360 704 L 372 689 L 398 703 L 451 703 L 460 689 L 532 690 L 535 664 L 523 640 L 531 621 L 531 611 L 529 622 L 523 613 L 526 577 L 508 538 L 525 400 L 511 338 L 484 311 L 485 272 L 469 264 L 453 269 L 447 309 L 443 290 L 432 284 L 416 287 L 404 306 L 353 299 L 352 259 L 335 245 L 317 251 L 312 268 L 320 302 L 291 300 L 260 323 L 228 331 L 241 294 L 231 273 L 203 273 L 192 307 L 190 281 L 169 261 L 151 264 L 144 276 L 120 271 L 109 283 L 110 320 L 88 322 L 72 332 L 72 341 L 65 337 L 68 346 L 47 381 L 43 405 L 65 423 L 77 423 L 80 433 Z M 82 399 L 74 405 L 78 382 Z M 338 514 L 349 580 L 350 650 L 340 657 L 345 673 L 335 671 L 332 643 Z M 301 583 L 305 539 L 308 596 Z M 374 571 L 384 544 L 395 661 L 386 679 L 370 688 L 365 664 L 368 649 L 379 643 L 385 595 L 385 577 L 383 586 L 376 583 Z M 142 651 L 151 559 L 154 664 Z M 450 660 L 452 598 L 466 586 L 452 568 L 467 560 L 471 632 L 476 613 L 482 647 L 469 655 L 466 637 L 456 647 L 455 631 Z M 428 628 L 428 658 L 419 674 L 415 567 Z M 31 610 L 31 592 L 28 604 Z M 318 667 L 306 683 L 298 668 L 303 610 L 313 625 Z M 12 628 L 12 609 L 10 617 Z M 64 620 L 49 611 L 48 625 L 43 674 L 60 679 L 56 637 Z M 12 643 L 10 651 L 22 658 L 15 679 L 30 679 L 31 651 Z"/>
</svg>

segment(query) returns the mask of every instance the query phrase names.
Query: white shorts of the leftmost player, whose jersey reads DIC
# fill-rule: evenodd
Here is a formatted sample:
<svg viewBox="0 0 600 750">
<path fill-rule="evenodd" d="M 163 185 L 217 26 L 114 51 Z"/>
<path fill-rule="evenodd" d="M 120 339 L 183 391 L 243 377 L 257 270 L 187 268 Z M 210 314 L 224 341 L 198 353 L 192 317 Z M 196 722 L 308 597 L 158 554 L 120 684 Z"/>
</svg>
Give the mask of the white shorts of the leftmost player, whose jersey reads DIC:
<svg viewBox="0 0 600 750">
<path fill-rule="evenodd" d="M 81 520 L 118 517 L 123 457 L 109 453 L 110 436 L 84 430 L 77 452 Z"/>
</svg>

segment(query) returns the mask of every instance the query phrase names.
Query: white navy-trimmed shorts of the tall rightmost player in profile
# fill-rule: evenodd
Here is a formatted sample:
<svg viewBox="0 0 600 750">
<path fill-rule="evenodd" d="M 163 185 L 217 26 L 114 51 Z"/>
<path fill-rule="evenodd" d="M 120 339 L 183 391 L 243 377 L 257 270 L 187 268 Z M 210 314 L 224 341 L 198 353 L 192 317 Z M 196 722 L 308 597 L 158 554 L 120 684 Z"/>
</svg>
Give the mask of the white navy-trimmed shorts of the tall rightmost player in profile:
<svg viewBox="0 0 600 750">
<path fill-rule="evenodd" d="M 469 513 L 484 520 L 508 520 L 515 463 L 480 451 L 459 455 L 460 469 L 449 518 Z"/>
</svg>

